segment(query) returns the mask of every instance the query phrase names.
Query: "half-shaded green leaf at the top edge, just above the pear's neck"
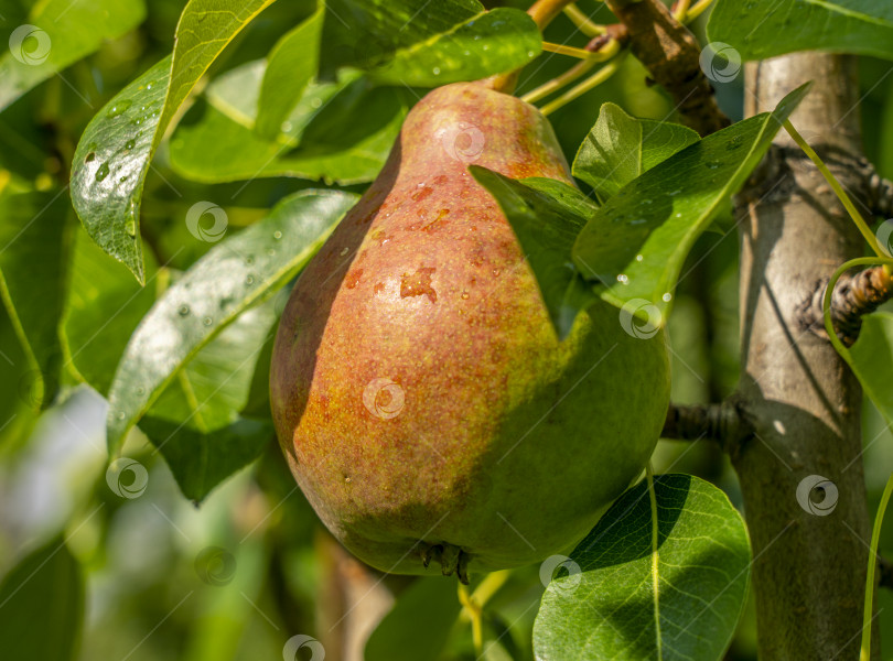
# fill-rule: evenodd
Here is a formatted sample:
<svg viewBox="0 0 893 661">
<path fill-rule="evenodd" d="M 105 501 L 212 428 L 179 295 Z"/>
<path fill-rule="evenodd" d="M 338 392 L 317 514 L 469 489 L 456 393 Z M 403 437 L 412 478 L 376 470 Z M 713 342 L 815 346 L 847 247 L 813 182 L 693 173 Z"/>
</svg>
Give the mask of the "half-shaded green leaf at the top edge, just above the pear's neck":
<svg viewBox="0 0 893 661">
<path fill-rule="evenodd" d="M 487 12 L 476 0 L 330 0 L 327 9 L 326 79 L 352 66 L 380 82 L 434 87 L 519 68 L 541 50 L 525 12 Z"/>
</svg>

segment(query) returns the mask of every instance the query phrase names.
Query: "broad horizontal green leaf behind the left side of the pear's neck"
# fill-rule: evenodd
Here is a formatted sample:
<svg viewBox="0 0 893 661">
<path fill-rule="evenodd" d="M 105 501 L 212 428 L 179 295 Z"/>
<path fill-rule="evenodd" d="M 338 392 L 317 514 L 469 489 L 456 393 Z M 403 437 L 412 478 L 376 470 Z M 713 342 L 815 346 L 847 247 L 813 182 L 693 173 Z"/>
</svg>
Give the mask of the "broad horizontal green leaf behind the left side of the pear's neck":
<svg viewBox="0 0 893 661">
<path fill-rule="evenodd" d="M 247 66 L 262 72 L 255 63 Z M 409 106 L 405 90 L 373 89 L 355 74 L 336 84 L 311 83 L 286 122 L 289 133 L 270 141 L 252 130 L 254 110 L 245 107 L 259 80 L 260 73 L 237 69 L 211 86 L 211 107 L 171 139 L 171 165 L 179 174 L 206 183 L 269 176 L 369 182 L 385 164 Z"/>
</svg>

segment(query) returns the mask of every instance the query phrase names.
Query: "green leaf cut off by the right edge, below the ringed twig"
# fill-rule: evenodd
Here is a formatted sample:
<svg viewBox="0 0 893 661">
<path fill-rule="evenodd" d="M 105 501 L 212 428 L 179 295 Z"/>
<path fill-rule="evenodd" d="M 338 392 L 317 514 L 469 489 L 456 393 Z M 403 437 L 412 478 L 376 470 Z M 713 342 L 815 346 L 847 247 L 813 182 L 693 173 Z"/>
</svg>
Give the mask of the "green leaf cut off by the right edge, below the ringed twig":
<svg viewBox="0 0 893 661">
<path fill-rule="evenodd" d="M 852 367 L 865 394 L 889 424 L 893 424 L 893 314 L 875 312 L 862 317 L 859 339 L 850 347 Z"/>
</svg>

